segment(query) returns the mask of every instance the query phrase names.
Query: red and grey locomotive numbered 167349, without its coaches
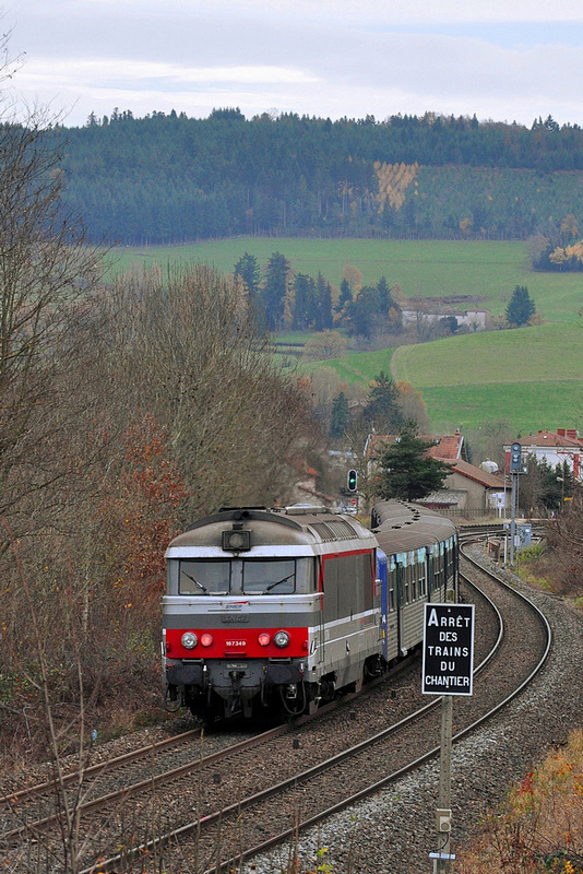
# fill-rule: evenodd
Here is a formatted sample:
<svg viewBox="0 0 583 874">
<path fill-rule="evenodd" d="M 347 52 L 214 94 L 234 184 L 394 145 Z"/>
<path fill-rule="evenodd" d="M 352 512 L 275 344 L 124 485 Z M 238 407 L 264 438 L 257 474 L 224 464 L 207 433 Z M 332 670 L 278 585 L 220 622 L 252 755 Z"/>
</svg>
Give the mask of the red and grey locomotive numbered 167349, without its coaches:
<svg viewBox="0 0 583 874">
<path fill-rule="evenodd" d="M 299 713 L 359 684 L 380 669 L 376 553 L 370 531 L 320 507 L 197 522 L 166 553 L 169 698 L 205 719 Z"/>
</svg>

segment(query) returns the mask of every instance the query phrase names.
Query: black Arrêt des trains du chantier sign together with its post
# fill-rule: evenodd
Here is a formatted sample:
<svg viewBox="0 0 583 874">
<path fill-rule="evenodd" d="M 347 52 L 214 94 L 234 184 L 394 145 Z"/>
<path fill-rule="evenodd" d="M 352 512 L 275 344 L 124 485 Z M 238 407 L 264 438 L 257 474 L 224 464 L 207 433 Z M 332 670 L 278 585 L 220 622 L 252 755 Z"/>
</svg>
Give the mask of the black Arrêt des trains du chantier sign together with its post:
<svg viewBox="0 0 583 874">
<path fill-rule="evenodd" d="M 472 695 L 473 669 L 474 604 L 426 603 L 421 692 L 442 696 L 438 851 L 429 853 L 433 874 L 449 874 L 455 859 L 450 851 L 453 696 Z"/>
</svg>

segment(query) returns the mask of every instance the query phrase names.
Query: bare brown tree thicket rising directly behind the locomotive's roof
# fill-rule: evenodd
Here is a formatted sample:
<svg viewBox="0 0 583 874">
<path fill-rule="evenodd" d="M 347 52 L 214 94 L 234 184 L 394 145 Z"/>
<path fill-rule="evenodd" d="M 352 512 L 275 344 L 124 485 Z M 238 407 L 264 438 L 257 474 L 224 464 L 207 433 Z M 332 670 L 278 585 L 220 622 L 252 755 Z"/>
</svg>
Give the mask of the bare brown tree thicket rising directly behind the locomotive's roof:
<svg viewBox="0 0 583 874">
<path fill-rule="evenodd" d="M 239 286 L 200 264 L 121 276 L 106 307 L 112 406 L 148 411 L 189 486 L 187 517 L 289 494 L 316 440 L 310 404 L 284 376 Z"/>
</svg>

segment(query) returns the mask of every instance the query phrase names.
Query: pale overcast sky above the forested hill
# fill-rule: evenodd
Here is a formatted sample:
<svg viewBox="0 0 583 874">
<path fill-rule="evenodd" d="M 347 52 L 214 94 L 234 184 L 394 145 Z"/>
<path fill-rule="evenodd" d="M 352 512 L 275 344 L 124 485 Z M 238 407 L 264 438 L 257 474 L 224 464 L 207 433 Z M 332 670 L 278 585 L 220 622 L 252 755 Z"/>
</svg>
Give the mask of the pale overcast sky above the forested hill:
<svg viewBox="0 0 583 874">
<path fill-rule="evenodd" d="M 2 0 L 10 81 L 67 126 L 130 109 L 583 125 L 583 0 Z M 3 83 L 5 92 L 7 82 Z"/>
</svg>

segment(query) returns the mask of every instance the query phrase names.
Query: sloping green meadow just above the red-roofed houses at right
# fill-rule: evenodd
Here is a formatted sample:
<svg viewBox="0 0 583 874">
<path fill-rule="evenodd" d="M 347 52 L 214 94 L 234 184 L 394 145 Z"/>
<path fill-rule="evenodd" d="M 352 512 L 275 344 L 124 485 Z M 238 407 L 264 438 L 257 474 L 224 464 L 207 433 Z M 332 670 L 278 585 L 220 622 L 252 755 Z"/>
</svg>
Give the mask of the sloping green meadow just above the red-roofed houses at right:
<svg viewBox="0 0 583 874">
<path fill-rule="evenodd" d="M 505 420 L 516 433 L 583 430 L 583 330 L 544 324 L 401 346 L 394 379 L 423 393 L 433 430 Z"/>
</svg>

